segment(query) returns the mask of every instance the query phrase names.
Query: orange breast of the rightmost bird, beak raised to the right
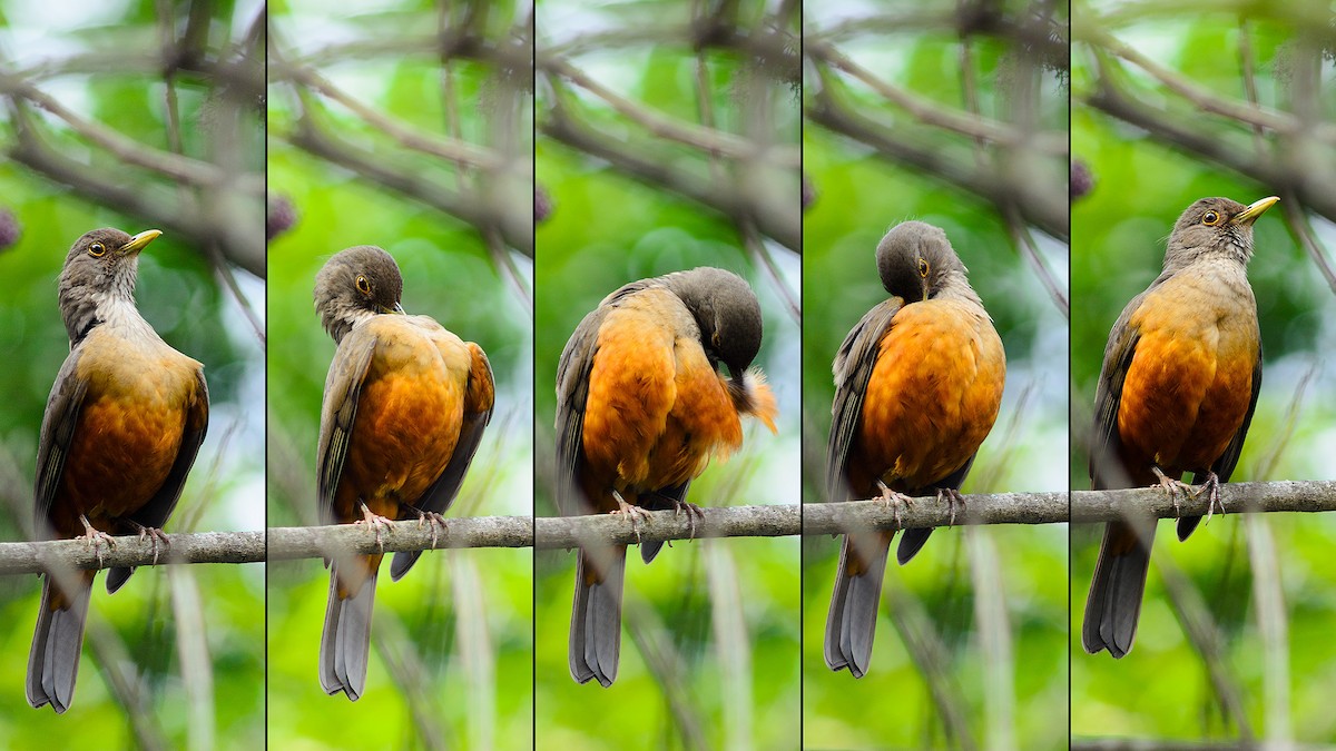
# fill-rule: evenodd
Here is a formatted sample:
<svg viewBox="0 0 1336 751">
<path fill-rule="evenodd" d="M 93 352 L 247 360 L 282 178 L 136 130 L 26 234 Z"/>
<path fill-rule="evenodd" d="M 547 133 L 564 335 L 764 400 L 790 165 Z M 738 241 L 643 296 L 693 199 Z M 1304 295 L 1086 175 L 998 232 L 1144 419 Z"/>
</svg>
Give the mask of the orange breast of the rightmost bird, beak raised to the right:
<svg viewBox="0 0 1336 751">
<path fill-rule="evenodd" d="M 1261 349 L 1252 301 L 1240 302 L 1176 277 L 1132 317 L 1141 338 L 1124 378 L 1118 434 L 1170 476 L 1209 468 L 1242 425 Z"/>
</svg>

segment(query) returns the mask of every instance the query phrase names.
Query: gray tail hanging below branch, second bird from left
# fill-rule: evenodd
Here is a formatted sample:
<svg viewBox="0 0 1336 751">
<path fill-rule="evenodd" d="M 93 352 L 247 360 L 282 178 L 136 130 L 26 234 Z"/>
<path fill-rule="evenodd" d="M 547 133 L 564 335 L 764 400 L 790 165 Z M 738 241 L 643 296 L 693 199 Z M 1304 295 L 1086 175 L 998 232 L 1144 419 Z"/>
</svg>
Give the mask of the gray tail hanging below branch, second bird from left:
<svg viewBox="0 0 1336 751">
<path fill-rule="evenodd" d="M 342 691 L 353 702 L 366 688 L 366 661 L 371 653 L 371 605 L 375 604 L 375 571 L 357 595 L 339 599 L 338 572 L 330 569 L 330 596 L 321 635 L 321 687 Z"/>
</svg>

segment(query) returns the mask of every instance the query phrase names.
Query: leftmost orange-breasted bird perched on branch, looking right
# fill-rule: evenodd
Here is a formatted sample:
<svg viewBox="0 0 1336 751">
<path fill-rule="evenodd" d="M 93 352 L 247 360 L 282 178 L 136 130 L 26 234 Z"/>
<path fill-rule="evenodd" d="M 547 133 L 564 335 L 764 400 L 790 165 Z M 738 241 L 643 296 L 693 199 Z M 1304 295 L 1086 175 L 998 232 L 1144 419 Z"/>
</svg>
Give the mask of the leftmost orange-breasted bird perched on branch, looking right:
<svg viewBox="0 0 1336 751">
<path fill-rule="evenodd" d="M 160 237 L 116 229 L 80 237 L 57 282 L 69 355 L 41 418 L 35 482 L 39 539 L 148 536 L 180 498 L 208 429 L 198 361 L 172 349 L 135 307 L 139 253 Z M 134 569 L 114 567 L 107 592 Z M 28 703 L 64 714 L 73 700 L 95 571 L 48 572 L 28 656 Z"/>
</svg>

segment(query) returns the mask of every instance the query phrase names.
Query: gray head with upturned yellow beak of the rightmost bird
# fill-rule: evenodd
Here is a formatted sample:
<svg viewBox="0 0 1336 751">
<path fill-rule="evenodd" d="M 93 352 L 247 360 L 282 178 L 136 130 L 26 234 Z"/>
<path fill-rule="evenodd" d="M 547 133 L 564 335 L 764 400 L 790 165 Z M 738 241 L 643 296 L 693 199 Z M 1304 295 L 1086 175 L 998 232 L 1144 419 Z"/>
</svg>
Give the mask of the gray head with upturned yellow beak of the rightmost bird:
<svg viewBox="0 0 1336 751">
<path fill-rule="evenodd" d="M 1169 235 L 1165 271 L 1174 271 L 1193 261 L 1222 255 L 1248 263 L 1252 258 L 1252 224 L 1264 211 L 1280 202 L 1275 195 L 1244 206 L 1228 198 L 1202 198 L 1178 216 Z"/>
</svg>

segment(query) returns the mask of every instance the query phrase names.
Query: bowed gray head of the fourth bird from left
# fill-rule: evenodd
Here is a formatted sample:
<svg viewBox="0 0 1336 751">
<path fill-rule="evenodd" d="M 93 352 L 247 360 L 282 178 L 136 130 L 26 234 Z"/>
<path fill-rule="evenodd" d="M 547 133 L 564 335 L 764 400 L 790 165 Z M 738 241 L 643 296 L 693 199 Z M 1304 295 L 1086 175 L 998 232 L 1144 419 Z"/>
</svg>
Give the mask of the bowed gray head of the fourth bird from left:
<svg viewBox="0 0 1336 751">
<path fill-rule="evenodd" d="M 903 222 L 886 233 L 876 243 L 876 273 L 886 291 L 906 305 L 942 293 L 979 301 L 946 233 L 925 222 Z"/>
</svg>

